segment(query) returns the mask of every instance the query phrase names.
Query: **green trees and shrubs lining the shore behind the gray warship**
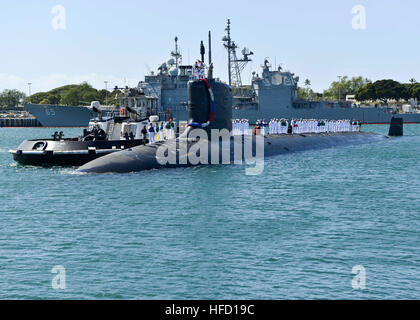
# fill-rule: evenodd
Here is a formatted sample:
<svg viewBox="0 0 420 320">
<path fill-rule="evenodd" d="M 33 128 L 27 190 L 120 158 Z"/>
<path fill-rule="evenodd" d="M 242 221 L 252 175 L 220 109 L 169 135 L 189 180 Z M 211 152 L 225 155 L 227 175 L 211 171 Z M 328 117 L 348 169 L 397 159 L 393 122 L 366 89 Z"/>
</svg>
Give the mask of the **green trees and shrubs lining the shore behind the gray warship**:
<svg viewBox="0 0 420 320">
<path fill-rule="evenodd" d="M 247 88 L 246 86 L 244 87 Z M 241 88 L 239 90 L 242 90 Z M 233 91 L 238 88 L 233 88 Z M 89 83 L 71 84 L 52 89 L 48 92 L 37 92 L 30 97 L 18 90 L 6 89 L 0 92 L 0 111 L 19 110 L 24 103 L 86 106 L 91 101 L 99 101 L 102 105 L 119 105 L 118 96 L 123 91 L 115 88 L 113 91 L 95 89 Z M 354 95 L 359 103 L 385 105 L 403 104 L 410 99 L 420 101 L 420 83 L 414 78 L 409 83 L 400 83 L 391 79 L 372 82 L 367 78 L 343 76 L 339 81 L 331 83 L 322 93 L 312 90 L 311 81 L 306 79 L 304 86 L 298 88 L 298 98 L 312 101 L 345 100 L 347 95 Z"/>
</svg>

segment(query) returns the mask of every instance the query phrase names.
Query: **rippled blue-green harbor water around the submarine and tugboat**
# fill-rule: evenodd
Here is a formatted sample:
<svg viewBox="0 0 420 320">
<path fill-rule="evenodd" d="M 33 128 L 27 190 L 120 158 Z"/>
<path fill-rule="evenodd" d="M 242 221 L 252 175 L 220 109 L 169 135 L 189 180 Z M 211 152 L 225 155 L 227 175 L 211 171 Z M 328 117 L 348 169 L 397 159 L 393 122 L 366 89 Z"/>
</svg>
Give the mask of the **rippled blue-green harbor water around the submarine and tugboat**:
<svg viewBox="0 0 420 320">
<path fill-rule="evenodd" d="M 54 131 L 0 129 L 1 299 L 420 298 L 420 125 L 268 158 L 259 176 L 13 162 L 10 148 Z M 51 285 L 57 265 L 65 290 Z M 356 265 L 364 290 L 352 287 Z"/>
</svg>

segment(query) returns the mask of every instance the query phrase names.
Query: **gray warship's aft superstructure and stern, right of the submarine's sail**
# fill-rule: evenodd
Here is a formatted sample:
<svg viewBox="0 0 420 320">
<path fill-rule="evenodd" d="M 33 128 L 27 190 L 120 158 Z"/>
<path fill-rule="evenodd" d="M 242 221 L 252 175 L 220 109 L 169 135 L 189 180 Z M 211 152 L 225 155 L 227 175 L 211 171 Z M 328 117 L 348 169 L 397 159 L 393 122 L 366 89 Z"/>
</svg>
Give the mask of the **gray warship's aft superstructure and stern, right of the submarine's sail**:
<svg viewBox="0 0 420 320">
<path fill-rule="evenodd" d="M 311 101 L 298 98 L 299 77 L 281 68 L 272 70 L 268 60 L 262 74 L 253 75 L 247 91 L 234 96 L 233 117 L 257 120 L 273 118 L 357 120 L 366 124 L 390 123 L 393 116 L 404 123 L 420 123 L 420 113 L 397 113 L 390 107 L 361 107 L 349 101 Z"/>
</svg>

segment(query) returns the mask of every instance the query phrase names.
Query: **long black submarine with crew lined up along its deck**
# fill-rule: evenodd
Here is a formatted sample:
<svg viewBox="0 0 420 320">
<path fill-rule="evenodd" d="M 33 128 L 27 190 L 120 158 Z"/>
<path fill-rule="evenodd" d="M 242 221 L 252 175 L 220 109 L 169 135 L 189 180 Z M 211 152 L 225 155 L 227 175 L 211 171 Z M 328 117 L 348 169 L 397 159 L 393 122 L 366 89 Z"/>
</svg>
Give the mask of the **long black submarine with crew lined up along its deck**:
<svg viewBox="0 0 420 320">
<path fill-rule="evenodd" d="M 177 139 L 138 146 L 106 155 L 78 169 L 81 173 L 129 173 L 205 164 L 255 164 L 264 157 L 383 141 L 369 132 L 232 136 L 232 89 L 213 79 L 188 83 L 189 122 Z M 393 119 L 390 133 L 402 135 L 401 119 Z"/>
</svg>

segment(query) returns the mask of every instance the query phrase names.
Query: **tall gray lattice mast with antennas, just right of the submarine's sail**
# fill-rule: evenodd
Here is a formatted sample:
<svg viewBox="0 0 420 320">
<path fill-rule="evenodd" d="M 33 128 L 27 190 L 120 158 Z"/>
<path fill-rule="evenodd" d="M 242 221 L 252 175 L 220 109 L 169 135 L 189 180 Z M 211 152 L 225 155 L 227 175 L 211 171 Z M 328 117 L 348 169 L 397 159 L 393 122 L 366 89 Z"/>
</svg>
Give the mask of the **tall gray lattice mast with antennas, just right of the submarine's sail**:
<svg viewBox="0 0 420 320">
<path fill-rule="evenodd" d="M 230 37 L 230 19 L 227 21 L 227 27 L 225 29 L 226 36 L 223 37 L 222 41 L 228 51 L 228 73 L 229 73 L 229 85 L 240 87 L 242 86 L 241 73 L 245 69 L 248 62 L 252 60 L 249 58 L 254 53 L 247 48 L 242 50 L 242 58 L 238 59 L 236 56 L 236 49 L 238 45 L 232 41 Z"/>
</svg>

